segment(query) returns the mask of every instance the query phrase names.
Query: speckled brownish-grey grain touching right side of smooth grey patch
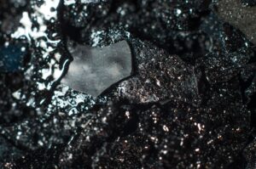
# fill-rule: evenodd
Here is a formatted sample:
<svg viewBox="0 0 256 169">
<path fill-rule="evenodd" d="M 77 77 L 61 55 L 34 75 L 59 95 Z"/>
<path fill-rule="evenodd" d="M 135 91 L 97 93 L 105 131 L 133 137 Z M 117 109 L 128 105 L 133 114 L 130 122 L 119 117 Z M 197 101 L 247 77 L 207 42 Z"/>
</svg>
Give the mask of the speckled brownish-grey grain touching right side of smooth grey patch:
<svg viewBox="0 0 256 169">
<path fill-rule="evenodd" d="M 180 99 L 196 104 L 197 76 L 182 59 L 155 48 L 148 42 L 131 43 L 135 54 L 135 75 L 119 83 L 116 95 L 132 103 L 146 104 Z"/>
</svg>

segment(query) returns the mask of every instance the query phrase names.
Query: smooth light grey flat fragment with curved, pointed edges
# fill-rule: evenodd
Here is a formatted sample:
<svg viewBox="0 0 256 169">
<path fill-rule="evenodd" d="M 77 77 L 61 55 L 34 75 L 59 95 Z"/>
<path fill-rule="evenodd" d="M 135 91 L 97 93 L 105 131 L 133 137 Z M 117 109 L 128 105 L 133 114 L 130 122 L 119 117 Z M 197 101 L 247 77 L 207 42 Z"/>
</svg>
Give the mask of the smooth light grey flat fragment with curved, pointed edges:
<svg viewBox="0 0 256 169">
<path fill-rule="evenodd" d="M 131 48 L 125 41 L 104 48 L 77 45 L 69 51 L 73 62 L 61 82 L 73 90 L 97 97 L 114 83 L 131 76 Z"/>
</svg>

